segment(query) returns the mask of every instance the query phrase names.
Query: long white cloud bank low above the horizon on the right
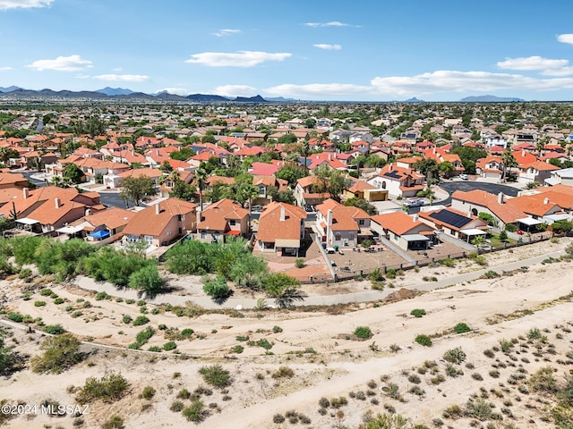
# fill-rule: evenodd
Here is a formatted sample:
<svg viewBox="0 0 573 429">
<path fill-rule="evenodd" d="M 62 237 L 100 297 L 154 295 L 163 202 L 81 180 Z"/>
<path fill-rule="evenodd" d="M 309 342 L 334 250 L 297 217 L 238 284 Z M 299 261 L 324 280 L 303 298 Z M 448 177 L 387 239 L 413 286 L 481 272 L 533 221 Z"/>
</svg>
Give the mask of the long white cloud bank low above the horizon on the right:
<svg viewBox="0 0 573 429">
<path fill-rule="evenodd" d="M 370 85 L 344 83 L 284 84 L 267 88 L 269 94 L 291 97 L 327 98 L 333 96 L 412 97 L 455 92 L 491 92 L 499 90 L 552 91 L 573 89 L 572 78 L 538 79 L 521 74 L 488 71 L 432 71 L 415 76 L 376 77 Z"/>
</svg>

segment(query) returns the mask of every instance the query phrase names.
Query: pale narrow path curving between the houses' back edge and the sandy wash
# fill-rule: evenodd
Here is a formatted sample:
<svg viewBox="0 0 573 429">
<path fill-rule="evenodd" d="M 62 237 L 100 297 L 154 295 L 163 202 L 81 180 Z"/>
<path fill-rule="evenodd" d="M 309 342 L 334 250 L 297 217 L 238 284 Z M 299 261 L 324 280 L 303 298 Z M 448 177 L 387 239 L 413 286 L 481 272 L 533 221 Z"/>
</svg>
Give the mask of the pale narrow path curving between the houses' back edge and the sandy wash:
<svg viewBox="0 0 573 429">
<path fill-rule="evenodd" d="M 410 288 L 411 290 L 435 290 L 440 288 L 445 288 L 450 285 L 469 282 L 478 279 L 487 273 L 488 271 L 495 271 L 496 273 L 503 273 L 507 271 L 517 270 L 525 265 L 539 264 L 548 257 L 560 257 L 564 255 L 565 252 L 560 250 L 558 252 L 553 252 L 551 254 L 545 254 L 538 257 L 530 257 L 527 259 L 522 259 L 516 262 L 511 262 L 508 264 L 488 266 L 482 270 L 474 271 L 471 273 L 458 274 L 453 277 L 446 279 L 440 279 L 438 282 L 423 282 L 419 284 L 413 284 Z M 108 295 L 113 297 L 121 297 L 123 299 L 141 299 L 138 296 L 136 290 L 118 290 L 111 283 L 107 282 L 95 282 L 88 277 L 78 277 L 75 280 L 75 284 L 81 289 L 85 290 L 97 290 L 106 291 Z M 384 290 L 364 290 L 363 292 L 348 293 L 344 295 L 325 295 L 318 297 L 307 297 L 302 301 L 295 301 L 296 306 L 332 306 L 335 304 L 346 304 L 350 302 L 371 302 L 380 299 L 385 299 L 389 294 L 393 293 L 395 289 L 385 288 Z M 158 296 L 156 299 L 148 299 L 149 302 L 153 304 L 171 304 L 174 306 L 184 306 L 186 302 L 191 301 L 203 308 L 207 309 L 222 309 L 222 308 L 255 308 L 257 306 L 258 299 L 248 299 L 248 298 L 229 298 L 222 304 L 217 304 L 213 302 L 209 297 L 189 297 L 180 295 L 168 295 L 168 296 Z M 269 307 L 274 307 L 273 299 L 267 299 Z"/>
</svg>

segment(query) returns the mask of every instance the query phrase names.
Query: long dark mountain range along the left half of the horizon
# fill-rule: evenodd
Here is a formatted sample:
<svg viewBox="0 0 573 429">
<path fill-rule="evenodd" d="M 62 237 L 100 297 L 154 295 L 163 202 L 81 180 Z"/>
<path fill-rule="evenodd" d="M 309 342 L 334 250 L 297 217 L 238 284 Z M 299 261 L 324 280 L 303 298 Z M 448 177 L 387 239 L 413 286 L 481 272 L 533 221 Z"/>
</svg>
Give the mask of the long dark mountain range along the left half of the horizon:
<svg viewBox="0 0 573 429">
<path fill-rule="evenodd" d="M 24 89 L 19 87 L 0 87 L 0 98 L 7 97 L 21 97 L 21 98 L 95 98 L 103 99 L 138 99 L 138 100 L 162 100 L 162 101 L 192 101 L 198 103 L 212 103 L 212 102 L 235 102 L 235 103 L 268 103 L 261 96 L 255 97 L 222 97 L 210 94 L 192 94 L 190 96 L 177 96 L 176 94 L 169 94 L 162 91 L 158 94 L 145 94 L 143 92 L 134 92 L 127 88 L 102 88 L 96 91 L 53 91 L 52 89 Z"/>
</svg>

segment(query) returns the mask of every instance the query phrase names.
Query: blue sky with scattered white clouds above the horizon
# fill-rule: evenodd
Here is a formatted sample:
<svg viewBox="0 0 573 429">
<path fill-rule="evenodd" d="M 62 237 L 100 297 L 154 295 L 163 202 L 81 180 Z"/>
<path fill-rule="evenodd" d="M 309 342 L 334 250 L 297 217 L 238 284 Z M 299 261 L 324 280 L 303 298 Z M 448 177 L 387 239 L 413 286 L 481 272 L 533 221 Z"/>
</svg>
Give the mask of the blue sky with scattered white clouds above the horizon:
<svg viewBox="0 0 573 429">
<path fill-rule="evenodd" d="M 570 0 L 0 0 L 0 87 L 573 100 Z"/>
</svg>

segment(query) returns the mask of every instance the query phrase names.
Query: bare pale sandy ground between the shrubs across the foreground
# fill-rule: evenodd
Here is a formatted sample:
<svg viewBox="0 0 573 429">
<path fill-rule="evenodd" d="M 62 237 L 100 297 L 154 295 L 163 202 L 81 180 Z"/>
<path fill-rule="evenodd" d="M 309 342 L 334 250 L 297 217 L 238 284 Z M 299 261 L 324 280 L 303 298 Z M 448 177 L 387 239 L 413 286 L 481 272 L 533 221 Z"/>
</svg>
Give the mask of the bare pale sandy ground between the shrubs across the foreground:
<svg viewBox="0 0 573 429">
<path fill-rule="evenodd" d="M 539 243 L 514 249 L 513 252 L 499 252 L 487 256 L 490 265 L 521 260 L 535 254 L 544 255 L 564 248 L 568 240 L 559 243 Z M 177 350 L 190 358 L 176 357 L 171 352 L 141 353 L 115 349 L 98 349 L 87 361 L 73 367 L 61 375 L 38 375 L 25 369 L 11 377 L 0 379 L 0 400 L 24 400 L 29 404 L 39 404 L 41 400 L 53 398 L 62 404 L 74 404 L 73 393 L 66 390 L 68 386 L 81 386 L 89 376 L 101 376 L 106 371 L 119 371 L 130 381 L 131 393 L 123 400 L 107 405 L 100 402 L 90 404 L 89 414 L 85 416 L 83 427 L 98 427 L 103 418 L 112 414 L 124 416 L 127 428 L 181 427 L 192 425 L 184 420 L 180 413 L 169 411 L 176 393 L 182 388 L 190 391 L 203 384 L 197 371 L 201 366 L 220 363 L 230 371 L 233 384 L 227 393 L 214 390 L 213 394 L 203 397 L 206 407 L 216 403 L 220 408 L 213 408 L 212 415 L 207 417 L 200 427 L 221 428 L 283 428 L 283 427 L 333 427 L 337 422 L 335 410 L 329 409 L 326 416 L 321 416 L 317 409 L 321 397 L 333 398 L 348 394 L 351 391 L 372 391 L 372 398 L 379 404 L 367 400 L 348 399 L 344 408 L 343 424 L 355 428 L 362 421 L 368 410 L 374 413 L 384 412 L 386 407 L 393 407 L 398 414 L 408 416 L 415 423 L 432 426 L 432 418 L 440 417 L 447 427 L 469 427 L 470 420 L 449 421 L 441 417 L 444 408 L 452 404 L 463 406 L 469 395 L 480 394 L 480 388 L 509 389 L 503 393 L 504 399 L 489 393 L 492 402 L 497 404 L 497 411 L 504 408 L 503 400 L 511 400 L 517 427 L 553 427 L 540 420 L 540 409 L 533 397 L 520 395 L 515 388 L 506 382 L 509 374 L 516 372 L 516 367 L 508 365 L 500 369 L 500 379 L 489 374 L 494 359 L 483 355 L 484 349 L 491 349 L 501 339 L 517 338 L 525 335 L 532 327 L 547 329 L 545 335 L 551 339 L 557 349 L 557 356 L 571 349 L 573 334 L 566 328 L 573 323 L 573 304 L 569 299 L 556 302 L 556 299 L 569 296 L 573 290 L 573 263 L 559 262 L 529 266 L 525 272 L 518 271 L 512 275 L 487 280 L 475 280 L 466 284 L 457 284 L 445 289 L 432 290 L 412 299 L 401 300 L 392 304 L 378 305 L 356 304 L 352 311 L 340 307 L 330 307 L 313 312 L 301 311 L 261 311 L 261 312 L 228 312 L 226 314 L 203 314 L 198 317 L 177 316 L 173 312 L 160 311 L 157 315 L 150 313 L 153 306 L 146 306 L 150 324 L 156 334 L 143 349 L 150 346 L 161 347 L 168 341 L 166 331 L 158 330 L 160 324 L 168 328 L 192 328 L 194 334 L 190 340 L 176 341 Z M 425 267 L 418 273 L 411 271 L 398 276 L 393 282 L 400 287 L 422 282 L 424 276 L 437 276 L 440 279 L 471 272 L 479 267 L 469 261 L 460 261 L 456 267 Z M 183 282 L 181 287 L 189 293 L 202 293 L 198 285 Z M 350 284 L 350 283 L 349 283 Z M 53 299 L 40 297 L 38 293 L 32 299 L 17 299 L 14 290 L 21 288 L 21 281 L 4 283 L 4 292 L 8 292 L 10 302 L 7 307 L 24 315 L 42 317 L 46 324 L 62 324 L 64 328 L 99 344 L 126 347 L 134 341 L 137 332 L 145 326 L 134 327 L 124 324 L 123 315 L 133 318 L 141 315 L 137 303 L 127 304 L 115 299 L 96 300 L 88 291 L 78 288 L 51 285 L 58 296 L 66 302 L 56 305 Z M 344 284 L 338 285 L 344 288 Z M 354 282 L 348 289 L 364 288 L 366 283 Z M 326 287 L 323 287 L 326 288 Z M 321 290 L 314 290 L 319 293 Z M 45 307 L 35 307 L 38 299 L 47 301 Z M 78 299 L 83 301 L 78 302 Z M 86 307 L 85 300 L 90 301 Z M 72 306 L 73 310 L 64 311 Z M 415 318 L 410 315 L 414 308 L 423 308 L 426 315 Z M 525 310 L 525 311 L 524 311 Z M 81 315 L 73 316 L 81 311 Z M 515 313 L 517 312 L 517 313 Z M 531 314 L 529 314 L 531 313 Z M 509 315 L 515 314 L 517 318 Z M 472 332 L 454 335 L 451 329 L 463 322 L 472 328 Z M 278 326 L 280 330 L 273 327 Z M 369 326 L 372 338 L 367 341 L 356 341 L 352 332 L 358 326 Z M 557 327 L 556 327 L 557 326 Z M 573 328 L 573 327 L 572 327 Z M 567 332 L 569 331 L 569 332 Z M 41 341 L 38 335 L 28 335 L 19 331 L 16 337 L 19 345 L 16 349 L 35 355 Z M 436 336 L 431 348 L 424 348 L 414 342 L 418 334 Z M 556 336 L 560 333 L 561 338 Z M 273 344 L 265 350 L 257 346 L 248 346 L 245 341 L 238 341 L 237 336 L 249 337 L 250 341 L 266 339 Z M 233 353 L 236 345 L 243 345 L 244 352 Z M 397 353 L 390 352 L 390 346 L 398 345 Z M 467 361 L 474 369 L 460 366 L 464 374 L 456 378 L 446 376 L 446 381 L 432 384 L 432 375 L 421 374 L 420 387 L 425 391 L 418 397 L 407 391 L 414 386 L 408 382 L 406 374 L 414 374 L 415 368 L 423 366 L 426 360 L 435 360 L 441 374 L 445 364 L 440 361 L 443 352 L 454 347 L 462 347 Z M 520 356 L 509 358 L 501 353 L 496 357 L 501 361 L 515 362 L 533 373 L 537 368 L 546 365 L 558 367 L 559 374 L 565 368 L 557 363 L 558 357 L 544 354 L 543 358 L 534 357 L 533 348 L 520 349 Z M 522 360 L 526 357 L 525 360 Z M 513 358 L 516 360 L 514 361 Z M 548 359 L 548 360 L 547 360 Z M 290 379 L 273 378 L 271 375 L 279 366 L 288 366 L 295 376 Z M 174 378 L 174 373 L 181 373 Z M 479 373 L 483 381 L 472 378 Z M 381 391 L 385 383 L 381 376 L 388 375 L 389 382 L 397 383 L 405 402 L 391 400 Z M 374 381 L 376 387 L 370 389 L 367 383 Z M 388 383 L 389 383 L 388 382 Z M 138 398 L 144 386 L 152 385 L 157 389 L 153 400 Z M 373 384 L 372 384 L 373 385 Z M 483 394 L 483 392 L 482 392 Z M 519 397 L 519 400 L 517 400 Z M 150 404 L 146 405 L 147 403 Z M 142 408 L 145 410 L 142 411 Z M 309 416 L 312 425 L 275 425 L 272 416 L 283 415 L 289 409 Z M 533 421 L 533 423 L 532 423 Z M 34 416 L 29 420 L 20 416 L 9 422 L 7 427 L 42 427 L 42 425 L 62 425 L 72 427 L 73 418 Z M 481 424 L 485 427 L 485 423 Z M 480 427 L 480 426 L 477 426 Z"/>
</svg>

